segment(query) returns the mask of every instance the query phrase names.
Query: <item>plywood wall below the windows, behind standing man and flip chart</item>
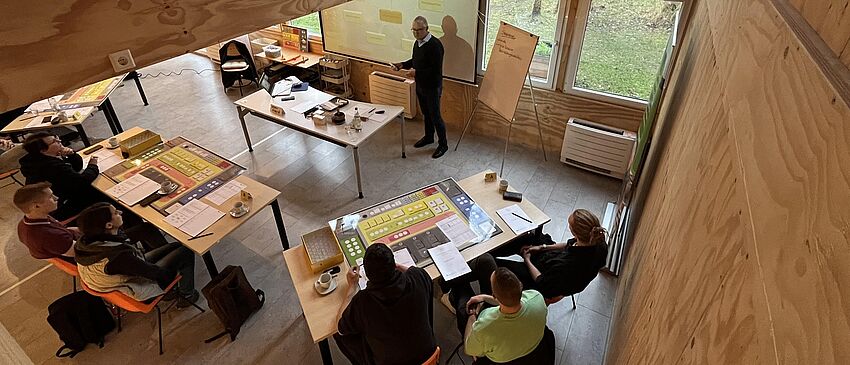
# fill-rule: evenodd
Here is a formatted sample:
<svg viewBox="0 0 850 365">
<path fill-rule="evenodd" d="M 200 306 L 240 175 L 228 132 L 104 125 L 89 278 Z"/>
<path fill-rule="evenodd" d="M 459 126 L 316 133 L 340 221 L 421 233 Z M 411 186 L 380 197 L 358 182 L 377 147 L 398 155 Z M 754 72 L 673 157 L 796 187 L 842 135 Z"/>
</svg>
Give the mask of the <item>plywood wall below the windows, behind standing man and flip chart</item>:
<svg viewBox="0 0 850 365">
<path fill-rule="evenodd" d="M 369 100 L 369 74 L 372 71 L 393 73 L 389 68 L 371 63 L 354 61 L 352 65 L 351 85 L 355 98 Z M 396 73 L 401 75 L 401 73 Z M 628 131 L 637 131 L 642 109 L 632 109 L 618 105 L 585 99 L 559 91 L 535 89 L 544 144 L 550 158 L 561 153 L 564 130 L 570 117 L 578 117 L 593 122 Z M 453 81 L 443 82 L 442 113 L 449 128 L 460 131 L 472 113 L 478 88 Z M 531 148 L 539 146 L 537 124 L 531 104 L 531 93 L 526 88 L 520 96 L 516 114 L 517 124 L 511 135 L 511 142 Z M 478 108 L 475 120 L 470 128 L 472 133 L 504 138 L 507 135 L 507 123 L 485 106 Z M 453 142 L 452 142 L 453 143 Z M 461 146 L 463 148 L 463 146 Z"/>
</svg>

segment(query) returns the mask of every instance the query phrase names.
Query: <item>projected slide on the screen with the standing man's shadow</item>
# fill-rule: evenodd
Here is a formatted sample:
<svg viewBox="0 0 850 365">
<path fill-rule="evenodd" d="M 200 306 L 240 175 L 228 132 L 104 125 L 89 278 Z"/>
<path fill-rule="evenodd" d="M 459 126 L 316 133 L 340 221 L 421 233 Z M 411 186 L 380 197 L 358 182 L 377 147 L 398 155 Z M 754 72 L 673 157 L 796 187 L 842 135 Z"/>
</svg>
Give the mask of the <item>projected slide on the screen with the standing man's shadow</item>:
<svg viewBox="0 0 850 365">
<path fill-rule="evenodd" d="M 445 48 L 443 75 L 475 82 L 478 0 L 353 0 L 321 15 L 325 50 L 382 63 L 410 59 L 422 15 Z"/>
</svg>

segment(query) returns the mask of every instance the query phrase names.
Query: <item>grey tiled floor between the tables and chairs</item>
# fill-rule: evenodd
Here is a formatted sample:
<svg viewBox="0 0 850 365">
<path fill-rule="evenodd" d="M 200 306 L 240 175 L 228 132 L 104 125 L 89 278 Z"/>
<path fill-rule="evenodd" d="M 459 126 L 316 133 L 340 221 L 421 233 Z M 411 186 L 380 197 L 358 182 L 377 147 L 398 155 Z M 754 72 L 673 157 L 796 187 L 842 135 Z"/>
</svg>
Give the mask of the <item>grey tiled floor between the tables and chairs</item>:
<svg viewBox="0 0 850 365">
<path fill-rule="evenodd" d="M 213 69 L 204 57 L 184 55 L 145 68 L 142 73 Z M 361 147 L 365 199 L 357 199 L 350 150 L 282 129 L 264 120 L 247 117 L 253 153 L 245 142 L 232 102 L 236 89 L 225 94 L 217 71 L 200 75 L 184 71 L 179 76 L 146 78 L 145 92 L 151 105 L 142 106 L 132 82 L 112 96 L 125 128 L 139 125 L 165 138 L 186 136 L 248 168 L 248 174 L 283 192 L 283 210 L 290 242 L 329 219 L 415 189 L 445 177 L 461 179 L 484 169 L 498 170 L 503 145 L 493 138 L 469 136 L 458 152 L 439 160 L 431 150 L 410 148 L 419 137 L 420 121 L 408 123 L 408 158 L 400 158 L 399 126 L 388 126 Z M 90 136 L 109 136 L 102 114 L 86 124 Z M 455 139 L 458 131 L 449 131 Z M 80 147 L 79 145 L 77 147 Z M 550 152 L 550 156 L 552 153 Z M 607 201 L 616 198 L 619 181 L 567 167 L 558 161 L 544 162 L 540 154 L 511 148 L 505 177 L 525 198 L 552 217 L 544 228 L 556 241 L 567 238 L 566 217 L 577 207 L 602 214 Z M 0 189 L 0 359 L 25 353 L 20 363 L 60 363 L 54 357 L 60 342 L 46 322 L 47 306 L 71 291 L 65 274 L 32 259 L 18 241 L 15 225 L 21 214 L 12 206 L 15 187 Z M 106 338 L 102 349 L 90 346 L 64 363 L 218 363 L 218 364 L 319 364 L 319 351 L 309 331 L 289 274 L 280 253 L 280 240 L 271 211 L 266 209 L 225 237 L 212 254 L 220 267 L 241 265 L 251 283 L 266 292 L 265 306 L 242 328 L 235 342 L 203 340 L 221 330 L 211 312 L 173 310 L 163 316 L 165 354 L 157 355 L 156 318 L 130 314 L 124 330 Z M 196 261 L 199 286 L 209 281 L 200 259 Z M 576 296 L 577 309 L 569 299 L 549 307 L 549 326 L 557 339 L 560 364 L 601 364 L 617 280 L 600 274 Z M 202 306 L 206 303 L 201 301 Z M 435 306 L 435 332 L 445 363 L 459 343 L 454 318 Z M 3 330 L 5 328 L 5 331 Z M 331 345 L 337 363 L 347 363 Z M 470 359 L 464 356 L 466 363 Z M 452 364 L 460 363 L 455 357 Z"/>
</svg>

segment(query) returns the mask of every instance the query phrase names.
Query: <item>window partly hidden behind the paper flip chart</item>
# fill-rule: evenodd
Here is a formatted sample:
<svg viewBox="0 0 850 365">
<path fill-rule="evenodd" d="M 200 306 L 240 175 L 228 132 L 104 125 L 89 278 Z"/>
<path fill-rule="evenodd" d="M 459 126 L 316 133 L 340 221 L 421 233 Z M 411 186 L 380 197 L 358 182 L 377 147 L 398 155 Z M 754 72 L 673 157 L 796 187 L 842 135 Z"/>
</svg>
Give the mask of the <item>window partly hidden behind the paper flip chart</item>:
<svg viewBox="0 0 850 365">
<path fill-rule="evenodd" d="M 558 59 L 556 40 L 560 34 L 560 19 L 563 18 L 561 8 L 560 0 L 489 0 L 481 71 L 487 69 L 490 51 L 499 32 L 499 22 L 504 21 L 540 36 L 529 72 L 535 84 L 551 88 Z"/>
</svg>

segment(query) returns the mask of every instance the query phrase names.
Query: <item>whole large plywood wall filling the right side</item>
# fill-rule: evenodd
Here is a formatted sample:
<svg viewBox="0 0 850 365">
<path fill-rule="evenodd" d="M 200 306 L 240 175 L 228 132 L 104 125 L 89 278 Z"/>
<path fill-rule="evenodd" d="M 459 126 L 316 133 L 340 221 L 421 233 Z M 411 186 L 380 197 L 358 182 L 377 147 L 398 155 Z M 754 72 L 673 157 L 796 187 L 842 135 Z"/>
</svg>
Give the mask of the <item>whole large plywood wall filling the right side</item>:
<svg viewBox="0 0 850 365">
<path fill-rule="evenodd" d="M 608 364 L 850 363 L 850 108 L 770 0 L 696 1 L 675 67 Z"/>
</svg>

